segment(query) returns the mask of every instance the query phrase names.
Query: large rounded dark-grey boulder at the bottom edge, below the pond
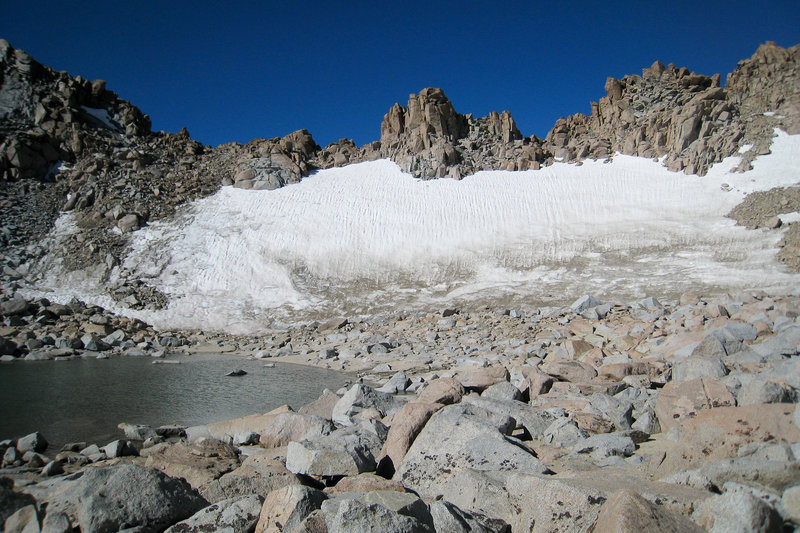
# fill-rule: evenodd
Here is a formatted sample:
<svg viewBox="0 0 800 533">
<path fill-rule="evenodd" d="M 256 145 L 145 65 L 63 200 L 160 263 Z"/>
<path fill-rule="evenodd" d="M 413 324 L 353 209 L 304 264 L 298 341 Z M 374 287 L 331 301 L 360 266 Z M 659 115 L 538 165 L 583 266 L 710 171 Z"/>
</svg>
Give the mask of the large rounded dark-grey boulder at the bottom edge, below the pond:
<svg viewBox="0 0 800 533">
<path fill-rule="evenodd" d="M 207 505 L 183 479 L 120 464 L 73 474 L 50 499 L 47 511 L 66 514 L 81 531 L 105 533 L 137 526 L 166 528 Z"/>
</svg>

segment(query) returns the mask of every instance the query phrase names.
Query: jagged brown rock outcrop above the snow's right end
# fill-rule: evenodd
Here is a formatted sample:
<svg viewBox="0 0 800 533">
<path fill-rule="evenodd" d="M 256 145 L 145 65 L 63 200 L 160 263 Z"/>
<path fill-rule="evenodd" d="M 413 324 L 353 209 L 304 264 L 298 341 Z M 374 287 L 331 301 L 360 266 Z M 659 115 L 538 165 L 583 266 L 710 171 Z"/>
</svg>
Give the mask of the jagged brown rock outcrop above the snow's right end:
<svg viewBox="0 0 800 533">
<path fill-rule="evenodd" d="M 566 161 L 606 158 L 615 152 L 662 158 L 687 174 L 705 174 L 745 144 L 742 169 L 769 152 L 774 127 L 800 127 L 800 45 L 767 43 L 739 62 L 725 89 L 720 75 L 696 74 L 656 61 L 642 75 L 608 78 L 606 96 L 590 115 L 556 122 L 545 148 Z M 767 115 L 765 115 L 767 113 Z"/>
</svg>

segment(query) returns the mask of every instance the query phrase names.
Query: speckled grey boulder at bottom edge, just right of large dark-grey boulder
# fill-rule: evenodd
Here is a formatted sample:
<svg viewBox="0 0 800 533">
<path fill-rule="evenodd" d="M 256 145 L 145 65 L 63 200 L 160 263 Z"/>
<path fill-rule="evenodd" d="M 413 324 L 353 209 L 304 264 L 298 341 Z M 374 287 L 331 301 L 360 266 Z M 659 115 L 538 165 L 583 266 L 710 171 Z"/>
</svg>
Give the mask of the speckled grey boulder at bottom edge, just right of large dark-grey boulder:
<svg viewBox="0 0 800 533">
<path fill-rule="evenodd" d="M 167 529 L 166 533 L 250 533 L 261 514 L 261 498 L 255 494 L 222 500 Z"/>
</svg>

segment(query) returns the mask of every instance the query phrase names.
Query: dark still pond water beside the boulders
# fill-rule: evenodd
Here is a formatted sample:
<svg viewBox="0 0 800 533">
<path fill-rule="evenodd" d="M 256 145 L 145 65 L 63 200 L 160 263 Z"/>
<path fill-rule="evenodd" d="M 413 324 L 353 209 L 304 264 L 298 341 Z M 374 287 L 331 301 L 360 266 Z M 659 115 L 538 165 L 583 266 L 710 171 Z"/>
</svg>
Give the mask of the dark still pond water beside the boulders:
<svg viewBox="0 0 800 533">
<path fill-rule="evenodd" d="M 122 437 L 120 422 L 192 426 L 265 413 L 283 404 L 297 409 L 336 390 L 338 372 L 220 355 L 18 361 L 0 364 L 0 439 L 40 431 L 49 453 L 66 442 L 101 446 Z M 231 370 L 247 375 L 226 377 Z"/>
</svg>

